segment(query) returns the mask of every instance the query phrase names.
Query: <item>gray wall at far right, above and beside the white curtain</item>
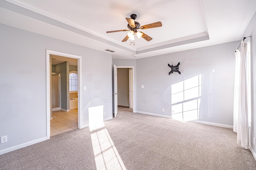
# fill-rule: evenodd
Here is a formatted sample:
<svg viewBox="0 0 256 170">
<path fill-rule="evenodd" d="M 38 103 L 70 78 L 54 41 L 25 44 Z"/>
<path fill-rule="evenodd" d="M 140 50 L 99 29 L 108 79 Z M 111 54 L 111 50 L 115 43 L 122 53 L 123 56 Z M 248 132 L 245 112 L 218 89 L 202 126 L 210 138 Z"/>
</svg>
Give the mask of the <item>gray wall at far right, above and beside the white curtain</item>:
<svg viewBox="0 0 256 170">
<path fill-rule="evenodd" d="M 256 13 L 252 17 L 252 20 L 248 24 L 244 35 L 241 37 L 252 36 L 251 38 L 251 68 L 252 68 L 252 131 L 251 131 L 251 143 L 253 144 L 253 138 L 256 138 Z M 252 146 L 254 150 L 254 158 L 256 156 L 256 147 Z"/>
</svg>

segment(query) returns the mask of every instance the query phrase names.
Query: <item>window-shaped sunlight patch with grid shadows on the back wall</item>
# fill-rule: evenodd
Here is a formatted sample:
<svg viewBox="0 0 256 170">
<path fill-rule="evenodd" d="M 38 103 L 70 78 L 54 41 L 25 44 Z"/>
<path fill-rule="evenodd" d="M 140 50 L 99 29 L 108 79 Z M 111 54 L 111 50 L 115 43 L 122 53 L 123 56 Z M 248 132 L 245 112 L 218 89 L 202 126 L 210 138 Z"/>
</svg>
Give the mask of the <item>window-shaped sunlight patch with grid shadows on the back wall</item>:
<svg viewBox="0 0 256 170">
<path fill-rule="evenodd" d="M 172 118 L 182 121 L 199 117 L 201 74 L 172 84 Z"/>
</svg>

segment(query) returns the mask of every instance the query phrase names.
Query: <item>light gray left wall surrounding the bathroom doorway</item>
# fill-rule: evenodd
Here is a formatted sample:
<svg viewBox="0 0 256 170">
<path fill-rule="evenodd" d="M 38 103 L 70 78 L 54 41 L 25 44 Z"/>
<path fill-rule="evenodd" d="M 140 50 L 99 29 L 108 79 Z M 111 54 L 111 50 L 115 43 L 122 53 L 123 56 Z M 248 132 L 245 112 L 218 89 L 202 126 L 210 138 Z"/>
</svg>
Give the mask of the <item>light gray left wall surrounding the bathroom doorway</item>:
<svg viewBox="0 0 256 170">
<path fill-rule="evenodd" d="M 46 49 L 82 56 L 82 125 L 89 107 L 103 105 L 104 119 L 112 118 L 110 54 L 3 24 L 0 30 L 0 136 L 8 135 L 0 153 L 47 137 Z"/>
</svg>

